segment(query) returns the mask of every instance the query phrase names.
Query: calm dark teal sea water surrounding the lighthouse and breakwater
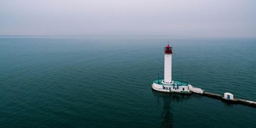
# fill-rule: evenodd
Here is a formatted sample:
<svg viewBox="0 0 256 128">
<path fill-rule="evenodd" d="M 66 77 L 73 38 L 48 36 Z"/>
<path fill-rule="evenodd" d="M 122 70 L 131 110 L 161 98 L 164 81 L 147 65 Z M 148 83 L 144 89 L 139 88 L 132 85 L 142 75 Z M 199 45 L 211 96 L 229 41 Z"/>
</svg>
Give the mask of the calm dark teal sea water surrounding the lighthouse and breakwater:
<svg viewBox="0 0 256 128">
<path fill-rule="evenodd" d="M 173 46 L 173 78 L 256 100 L 256 39 L 0 37 L 0 127 L 255 127 L 256 109 L 152 91 Z"/>
</svg>

